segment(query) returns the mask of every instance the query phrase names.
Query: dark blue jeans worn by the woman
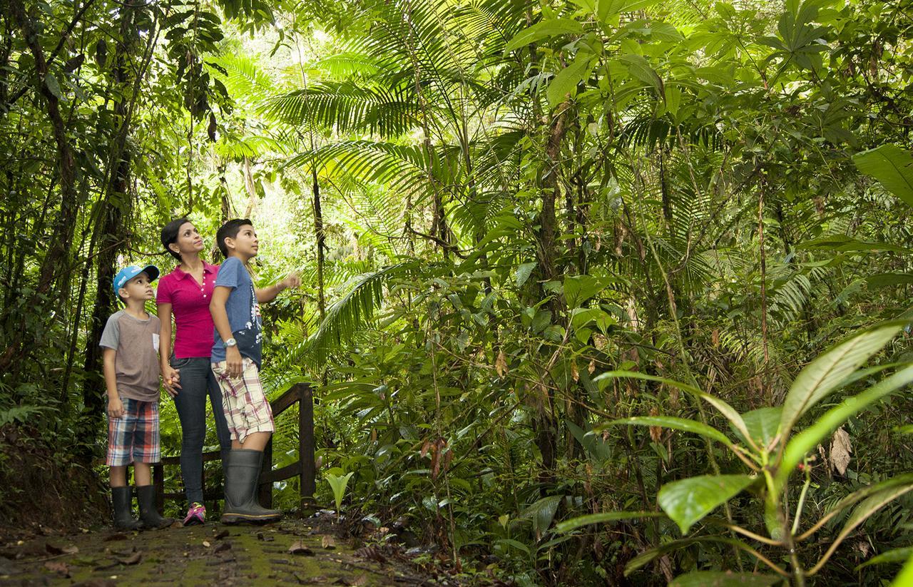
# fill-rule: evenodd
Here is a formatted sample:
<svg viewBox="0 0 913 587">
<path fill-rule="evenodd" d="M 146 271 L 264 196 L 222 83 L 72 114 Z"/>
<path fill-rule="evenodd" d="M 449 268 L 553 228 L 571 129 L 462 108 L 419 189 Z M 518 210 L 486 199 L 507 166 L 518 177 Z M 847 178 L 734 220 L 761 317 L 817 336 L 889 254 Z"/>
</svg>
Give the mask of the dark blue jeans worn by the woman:
<svg viewBox="0 0 913 587">
<path fill-rule="evenodd" d="M 215 381 L 209 357 L 175 359 L 171 365 L 181 372 L 181 389 L 174 396 L 174 407 L 181 419 L 181 477 L 188 506 L 203 503 L 203 443 L 206 438 L 206 396 L 213 406 L 215 434 L 222 447 L 223 461 L 231 449 L 222 391 Z"/>
</svg>

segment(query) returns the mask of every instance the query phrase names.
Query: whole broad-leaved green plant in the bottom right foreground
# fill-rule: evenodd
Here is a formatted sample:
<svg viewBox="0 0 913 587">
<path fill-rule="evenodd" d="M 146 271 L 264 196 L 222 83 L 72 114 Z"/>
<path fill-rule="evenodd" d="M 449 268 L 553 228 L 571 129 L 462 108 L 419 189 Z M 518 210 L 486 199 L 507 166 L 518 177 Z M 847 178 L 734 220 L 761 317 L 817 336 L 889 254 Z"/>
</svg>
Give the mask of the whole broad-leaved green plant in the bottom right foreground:
<svg viewBox="0 0 913 587">
<path fill-rule="evenodd" d="M 786 580 L 795 585 L 803 585 L 806 577 L 811 577 L 821 571 L 834 551 L 854 529 L 879 508 L 913 489 L 913 473 L 892 477 L 846 496 L 821 519 L 814 521 L 807 528 L 803 524 L 805 498 L 811 485 L 810 455 L 815 447 L 832 435 L 848 418 L 913 382 L 913 365 L 909 363 L 888 363 L 861 368 L 907 324 L 907 320 L 888 321 L 856 333 L 849 340 L 825 351 L 806 366 L 792 383 L 792 388 L 782 405 L 765 407 L 745 414 L 740 414 L 719 397 L 705 393 L 693 384 L 675 382 L 639 372 L 615 371 L 600 375 L 597 379 L 603 381 L 624 377 L 675 386 L 698 398 L 699 402 L 712 405 L 729 421 L 729 425 L 735 431 L 737 439 L 733 440 L 724 431 L 705 422 L 672 416 L 641 416 L 608 423 L 609 425 L 662 426 L 697 434 L 706 438 L 708 442 L 726 446 L 748 469 L 747 473 L 738 475 L 717 474 L 689 477 L 666 483 L 661 487 L 657 495 L 658 505 L 666 516 L 677 524 L 682 534 L 687 534 L 711 511 L 726 504 L 746 489 L 751 489 L 755 495 L 761 498 L 759 505 L 763 508 L 763 519 L 766 526 L 766 533 L 762 533 L 742 528 L 732 523 L 731 519 L 707 519 L 705 522 L 708 526 L 729 529 L 731 533 L 673 540 L 639 555 L 630 561 L 625 572 L 633 572 L 666 552 L 702 541 L 723 543 L 748 552 L 776 572 L 776 575 L 695 571 L 679 576 L 675 583 L 691 584 L 699 579 L 701 581 L 713 580 L 713 584 L 717 585 L 744 585 L 773 584 Z M 797 425 L 803 415 L 808 414 L 814 405 L 819 404 L 831 393 L 888 369 L 896 369 L 896 371 L 862 393 L 846 397 L 842 402 L 803 427 L 802 430 L 797 430 Z M 792 497 L 795 493 L 794 490 L 791 491 L 792 477 L 799 477 L 802 480 L 797 499 L 787 499 L 788 496 Z M 843 529 L 820 559 L 811 568 L 804 568 L 798 554 L 803 541 L 811 538 L 829 520 L 854 506 L 852 513 L 845 520 Z M 570 519 L 559 524 L 556 529 L 560 532 L 567 532 L 587 524 L 656 515 L 659 514 L 656 512 L 607 512 Z M 789 566 L 783 568 L 774 562 L 781 560 L 780 557 L 764 556 L 745 540 L 736 538 L 736 534 L 747 537 L 755 543 L 766 545 L 760 547 L 761 550 L 771 550 L 771 547 L 782 549 L 782 559 L 788 558 Z"/>
</svg>

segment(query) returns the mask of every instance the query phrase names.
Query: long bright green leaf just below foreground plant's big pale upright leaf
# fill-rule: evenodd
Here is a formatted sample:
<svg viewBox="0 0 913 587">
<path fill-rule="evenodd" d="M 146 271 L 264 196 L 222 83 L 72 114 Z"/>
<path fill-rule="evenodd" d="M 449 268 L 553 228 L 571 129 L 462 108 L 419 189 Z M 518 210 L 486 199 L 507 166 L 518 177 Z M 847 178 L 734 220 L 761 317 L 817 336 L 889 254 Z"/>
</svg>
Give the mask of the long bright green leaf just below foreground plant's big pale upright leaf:
<svg viewBox="0 0 913 587">
<path fill-rule="evenodd" d="M 831 435 L 847 418 L 858 414 L 864 410 L 867 405 L 872 404 L 890 393 L 908 383 L 913 382 L 913 365 L 902 369 L 890 377 L 876 383 L 866 389 L 865 392 L 859 393 L 853 397 L 846 398 L 843 402 L 828 410 L 824 415 L 818 418 L 813 425 L 795 435 L 786 449 L 783 451 L 783 457 L 777 468 L 777 474 L 774 477 L 775 492 L 779 494 L 780 489 L 786 483 L 795 467 L 803 460 L 805 455 L 818 445 L 825 437 Z"/>
</svg>

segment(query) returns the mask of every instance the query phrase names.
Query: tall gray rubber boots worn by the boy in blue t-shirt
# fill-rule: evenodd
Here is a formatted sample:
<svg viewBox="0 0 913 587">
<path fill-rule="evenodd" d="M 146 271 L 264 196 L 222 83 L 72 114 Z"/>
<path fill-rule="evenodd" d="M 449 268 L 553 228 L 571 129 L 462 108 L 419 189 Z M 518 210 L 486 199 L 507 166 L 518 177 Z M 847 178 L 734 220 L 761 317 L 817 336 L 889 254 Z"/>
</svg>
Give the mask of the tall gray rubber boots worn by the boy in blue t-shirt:
<svg viewBox="0 0 913 587">
<path fill-rule="evenodd" d="M 266 524 L 282 519 L 279 509 L 267 509 L 257 503 L 257 480 L 263 453 L 258 450 L 233 449 L 225 464 L 226 508 L 223 524 Z"/>
</svg>

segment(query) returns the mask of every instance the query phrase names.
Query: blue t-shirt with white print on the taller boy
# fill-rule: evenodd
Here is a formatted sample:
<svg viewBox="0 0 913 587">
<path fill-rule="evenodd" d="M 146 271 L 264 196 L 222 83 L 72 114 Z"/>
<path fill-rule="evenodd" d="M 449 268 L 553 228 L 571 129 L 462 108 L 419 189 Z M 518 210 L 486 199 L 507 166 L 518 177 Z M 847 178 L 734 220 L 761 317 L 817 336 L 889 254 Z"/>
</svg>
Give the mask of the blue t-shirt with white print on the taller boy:
<svg viewBox="0 0 913 587">
<path fill-rule="evenodd" d="M 216 288 L 231 288 L 226 300 L 228 325 L 237 341 L 237 350 L 242 357 L 247 357 L 260 368 L 263 355 L 263 321 L 260 319 L 260 305 L 257 304 L 257 291 L 254 280 L 247 273 L 247 267 L 237 257 L 228 257 L 215 276 Z M 215 330 L 212 362 L 226 360 L 226 346 Z"/>
</svg>

